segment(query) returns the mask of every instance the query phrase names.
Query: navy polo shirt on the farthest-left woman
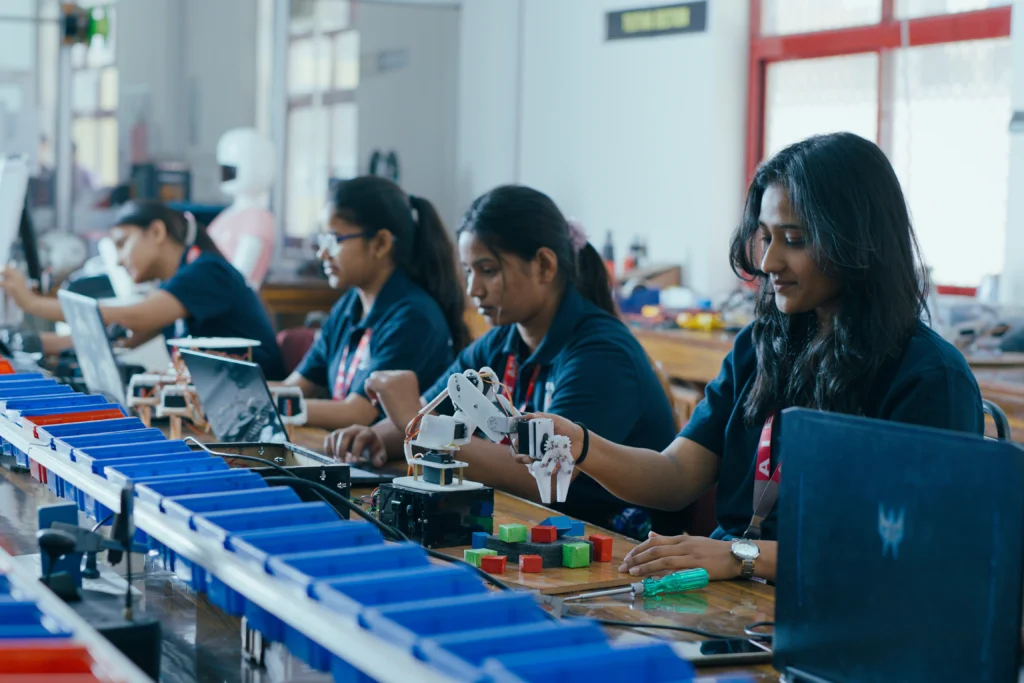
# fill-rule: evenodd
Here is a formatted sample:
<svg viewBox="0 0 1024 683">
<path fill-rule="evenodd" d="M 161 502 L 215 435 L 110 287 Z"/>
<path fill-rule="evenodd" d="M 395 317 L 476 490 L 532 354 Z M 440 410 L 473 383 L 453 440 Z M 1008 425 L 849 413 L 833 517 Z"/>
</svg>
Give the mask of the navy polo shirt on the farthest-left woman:
<svg viewBox="0 0 1024 683">
<path fill-rule="evenodd" d="M 263 369 L 268 381 L 285 379 L 285 361 L 278 347 L 273 326 L 256 292 L 223 256 L 200 252 L 189 261 L 189 251 L 181 257 L 174 276 L 161 285 L 181 302 L 188 316 L 164 329 L 164 336 L 243 337 L 255 339 L 253 360 Z"/>
</svg>

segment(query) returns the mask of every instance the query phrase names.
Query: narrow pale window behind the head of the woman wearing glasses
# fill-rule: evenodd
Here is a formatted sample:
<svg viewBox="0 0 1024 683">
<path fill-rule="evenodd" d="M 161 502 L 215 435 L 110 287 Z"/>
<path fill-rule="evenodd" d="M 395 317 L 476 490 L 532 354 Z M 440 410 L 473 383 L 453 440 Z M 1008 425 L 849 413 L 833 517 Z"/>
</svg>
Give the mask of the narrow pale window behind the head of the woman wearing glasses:
<svg viewBox="0 0 1024 683">
<path fill-rule="evenodd" d="M 333 178 L 358 173 L 359 34 L 345 0 L 292 3 L 288 48 L 285 234 L 319 229 Z"/>
</svg>

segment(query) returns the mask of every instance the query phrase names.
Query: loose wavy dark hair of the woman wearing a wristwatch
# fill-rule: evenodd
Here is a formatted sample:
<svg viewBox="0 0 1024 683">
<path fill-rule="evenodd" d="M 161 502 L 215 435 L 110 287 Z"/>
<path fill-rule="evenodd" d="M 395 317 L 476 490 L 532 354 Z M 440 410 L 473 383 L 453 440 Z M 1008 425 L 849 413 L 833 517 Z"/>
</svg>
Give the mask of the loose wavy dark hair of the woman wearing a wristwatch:
<svg viewBox="0 0 1024 683">
<path fill-rule="evenodd" d="M 778 310 L 760 271 L 761 199 L 773 185 L 787 194 L 815 263 L 841 285 L 828 334 L 815 334 L 814 311 Z M 760 284 L 757 377 L 744 407 L 750 424 L 791 405 L 857 414 L 879 370 L 903 351 L 925 310 L 928 279 L 899 180 L 882 151 L 852 133 L 808 138 L 758 169 L 731 258 L 736 274 Z"/>
</svg>

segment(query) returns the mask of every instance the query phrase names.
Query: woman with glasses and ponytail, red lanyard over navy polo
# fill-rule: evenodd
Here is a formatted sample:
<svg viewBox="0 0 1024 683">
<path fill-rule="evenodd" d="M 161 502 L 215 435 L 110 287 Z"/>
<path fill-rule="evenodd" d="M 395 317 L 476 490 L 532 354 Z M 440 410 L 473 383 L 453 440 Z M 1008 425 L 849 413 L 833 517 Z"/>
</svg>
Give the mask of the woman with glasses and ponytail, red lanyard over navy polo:
<svg viewBox="0 0 1024 683">
<path fill-rule="evenodd" d="M 432 383 L 469 343 L 455 248 L 434 207 L 385 178 L 339 182 L 317 253 L 331 287 L 347 289 L 287 383 L 309 397 L 309 424 L 373 424 L 374 371 Z"/>
</svg>

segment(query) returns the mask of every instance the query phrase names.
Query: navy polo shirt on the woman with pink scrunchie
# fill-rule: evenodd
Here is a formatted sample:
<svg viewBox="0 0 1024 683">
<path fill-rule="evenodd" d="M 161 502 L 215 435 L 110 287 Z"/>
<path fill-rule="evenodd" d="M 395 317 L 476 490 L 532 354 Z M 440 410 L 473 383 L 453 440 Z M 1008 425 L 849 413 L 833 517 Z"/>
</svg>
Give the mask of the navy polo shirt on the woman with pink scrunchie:
<svg viewBox="0 0 1024 683">
<path fill-rule="evenodd" d="M 424 398 L 435 398 L 454 373 L 490 368 L 504 378 L 509 355 L 519 366 L 516 385 L 510 387 L 516 408 L 525 402 L 526 412 L 559 415 L 615 443 L 641 449 L 662 451 L 675 436 L 672 407 L 643 347 L 622 321 L 572 287 L 536 351 L 529 353 L 516 326 L 495 328 L 460 353 Z M 536 388 L 527 399 L 536 368 Z M 450 415 L 452 410 L 450 401 L 440 409 Z M 632 506 L 581 474 L 565 503 L 553 507 L 607 527 Z"/>
</svg>

